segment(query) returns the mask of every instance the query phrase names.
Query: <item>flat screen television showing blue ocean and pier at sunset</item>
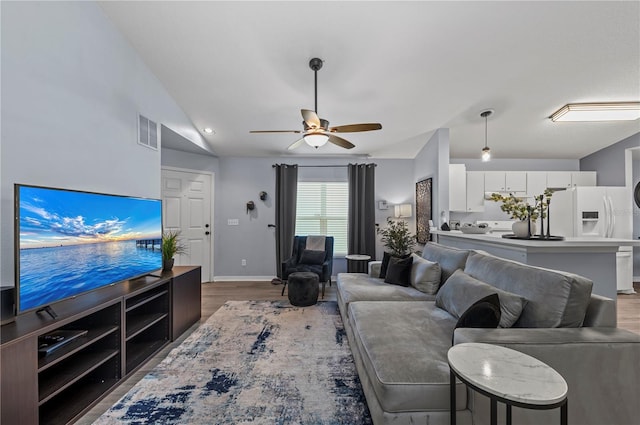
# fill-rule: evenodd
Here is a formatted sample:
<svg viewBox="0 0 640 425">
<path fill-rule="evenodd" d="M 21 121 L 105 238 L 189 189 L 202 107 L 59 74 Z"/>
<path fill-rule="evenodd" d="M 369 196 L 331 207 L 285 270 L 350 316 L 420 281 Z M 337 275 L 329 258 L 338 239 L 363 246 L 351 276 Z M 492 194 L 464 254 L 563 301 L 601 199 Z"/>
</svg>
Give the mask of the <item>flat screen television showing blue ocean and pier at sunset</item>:
<svg viewBox="0 0 640 425">
<path fill-rule="evenodd" d="M 162 201 L 16 184 L 18 313 L 162 268 Z"/>
</svg>

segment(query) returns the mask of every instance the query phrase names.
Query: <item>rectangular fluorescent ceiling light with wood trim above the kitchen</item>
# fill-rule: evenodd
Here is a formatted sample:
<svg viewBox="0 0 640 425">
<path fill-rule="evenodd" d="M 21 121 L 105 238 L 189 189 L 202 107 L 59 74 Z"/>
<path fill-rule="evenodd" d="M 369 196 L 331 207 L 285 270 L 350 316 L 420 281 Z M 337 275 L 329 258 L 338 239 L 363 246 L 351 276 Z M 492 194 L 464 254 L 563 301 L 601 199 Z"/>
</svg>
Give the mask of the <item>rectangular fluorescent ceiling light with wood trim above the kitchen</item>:
<svg viewBox="0 0 640 425">
<path fill-rule="evenodd" d="M 569 103 L 551 121 L 633 121 L 640 118 L 640 102 Z"/>
</svg>

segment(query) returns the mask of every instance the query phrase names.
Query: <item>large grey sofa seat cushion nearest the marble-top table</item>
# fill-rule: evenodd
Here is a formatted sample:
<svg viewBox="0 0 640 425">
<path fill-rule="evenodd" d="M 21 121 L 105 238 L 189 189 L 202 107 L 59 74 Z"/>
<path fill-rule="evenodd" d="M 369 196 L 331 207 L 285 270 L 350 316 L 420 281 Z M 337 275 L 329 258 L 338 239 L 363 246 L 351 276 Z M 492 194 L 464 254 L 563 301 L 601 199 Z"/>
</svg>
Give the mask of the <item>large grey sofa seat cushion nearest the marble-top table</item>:
<svg viewBox="0 0 640 425">
<path fill-rule="evenodd" d="M 448 411 L 453 316 L 428 301 L 354 302 L 349 323 L 349 343 L 385 412 Z M 457 402 L 464 406 L 463 394 Z"/>
</svg>

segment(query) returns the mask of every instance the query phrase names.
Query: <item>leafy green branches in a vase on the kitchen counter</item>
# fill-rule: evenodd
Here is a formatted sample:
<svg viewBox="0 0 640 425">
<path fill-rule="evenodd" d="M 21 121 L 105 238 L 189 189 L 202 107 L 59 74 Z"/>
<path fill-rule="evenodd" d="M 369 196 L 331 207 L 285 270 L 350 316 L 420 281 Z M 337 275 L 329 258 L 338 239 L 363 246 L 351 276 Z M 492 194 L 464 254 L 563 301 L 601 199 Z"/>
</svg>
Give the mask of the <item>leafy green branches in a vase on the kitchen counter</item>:
<svg viewBox="0 0 640 425">
<path fill-rule="evenodd" d="M 543 219 L 547 217 L 547 208 L 552 193 L 551 190 L 545 189 L 544 194 L 533 197 L 535 201 L 533 205 L 526 202 L 524 198 L 516 197 L 513 193 L 507 196 L 492 193 L 491 200 L 502 202 L 500 209 L 509 214 L 512 219 L 518 220 L 513 223 L 513 233 L 517 237 L 529 237 L 536 232 L 536 220 L 540 217 Z M 546 202 L 544 201 L 545 197 Z M 529 220 L 531 220 L 531 228 L 529 228 Z"/>
</svg>

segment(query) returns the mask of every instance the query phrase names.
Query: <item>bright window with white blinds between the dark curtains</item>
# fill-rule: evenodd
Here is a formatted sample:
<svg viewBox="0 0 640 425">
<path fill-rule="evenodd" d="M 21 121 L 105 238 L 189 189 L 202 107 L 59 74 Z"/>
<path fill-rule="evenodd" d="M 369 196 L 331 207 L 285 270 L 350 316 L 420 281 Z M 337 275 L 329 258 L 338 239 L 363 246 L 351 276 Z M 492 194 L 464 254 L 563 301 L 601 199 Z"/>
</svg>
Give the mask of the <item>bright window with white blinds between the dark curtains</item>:
<svg viewBox="0 0 640 425">
<path fill-rule="evenodd" d="M 333 236 L 333 254 L 347 254 L 347 182 L 298 182 L 296 235 Z"/>
</svg>

